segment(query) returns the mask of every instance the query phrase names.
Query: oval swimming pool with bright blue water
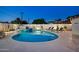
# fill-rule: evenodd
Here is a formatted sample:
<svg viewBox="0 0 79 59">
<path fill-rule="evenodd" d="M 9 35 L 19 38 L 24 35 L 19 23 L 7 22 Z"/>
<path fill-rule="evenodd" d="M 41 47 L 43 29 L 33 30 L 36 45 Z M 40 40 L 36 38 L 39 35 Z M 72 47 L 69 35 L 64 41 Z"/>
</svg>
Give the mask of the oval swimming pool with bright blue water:
<svg viewBox="0 0 79 59">
<path fill-rule="evenodd" d="M 41 30 L 22 30 L 19 34 L 16 34 L 12 37 L 13 40 L 21 42 L 46 42 L 55 40 L 57 38 L 57 34 Z"/>
</svg>

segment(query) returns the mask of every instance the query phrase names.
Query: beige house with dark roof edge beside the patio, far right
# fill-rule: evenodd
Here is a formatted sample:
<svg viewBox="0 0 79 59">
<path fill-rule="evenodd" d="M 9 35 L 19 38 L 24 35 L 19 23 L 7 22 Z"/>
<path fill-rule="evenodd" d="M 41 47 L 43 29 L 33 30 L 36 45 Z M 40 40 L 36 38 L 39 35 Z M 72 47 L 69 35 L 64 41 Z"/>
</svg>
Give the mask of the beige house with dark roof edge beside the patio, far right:
<svg viewBox="0 0 79 59">
<path fill-rule="evenodd" d="M 70 17 L 72 22 L 72 34 L 79 35 L 79 15 L 74 15 Z"/>
</svg>

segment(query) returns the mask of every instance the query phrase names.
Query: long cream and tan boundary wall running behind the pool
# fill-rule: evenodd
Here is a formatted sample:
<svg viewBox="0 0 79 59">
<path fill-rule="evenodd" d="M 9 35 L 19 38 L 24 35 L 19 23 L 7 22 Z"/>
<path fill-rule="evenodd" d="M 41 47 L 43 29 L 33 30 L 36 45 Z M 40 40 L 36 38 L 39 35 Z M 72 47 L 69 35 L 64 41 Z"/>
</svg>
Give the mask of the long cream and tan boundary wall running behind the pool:
<svg viewBox="0 0 79 59">
<path fill-rule="evenodd" d="M 68 29 L 72 29 L 72 25 L 71 24 L 24 24 L 24 25 L 18 25 L 18 24 L 3 24 L 0 23 L 0 31 L 10 31 L 11 29 L 25 29 L 26 27 L 31 27 L 31 28 L 41 28 L 41 26 L 43 27 L 43 29 L 48 29 L 49 27 L 54 27 L 54 29 L 56 29 L 57 26 L 59 27 L 64 27 L 66 26 Z"/>
</svg>

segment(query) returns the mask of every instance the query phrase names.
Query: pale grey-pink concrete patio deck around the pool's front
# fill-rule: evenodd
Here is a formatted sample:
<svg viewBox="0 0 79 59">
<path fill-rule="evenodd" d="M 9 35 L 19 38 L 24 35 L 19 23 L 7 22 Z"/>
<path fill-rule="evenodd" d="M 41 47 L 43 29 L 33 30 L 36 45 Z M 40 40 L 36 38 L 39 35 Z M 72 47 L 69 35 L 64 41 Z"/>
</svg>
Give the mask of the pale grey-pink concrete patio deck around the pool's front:
<svg viewBox="0 0 79 59">
<path fill-rule="evenodd" d="M 12 35 L 0 40 L 0 51 L 6 52 L 74 52 L 69 48 L 72 32 L 57 32 L 59 38 L 48 42 L 20 42 L 11 38 Z"/>
</svg>

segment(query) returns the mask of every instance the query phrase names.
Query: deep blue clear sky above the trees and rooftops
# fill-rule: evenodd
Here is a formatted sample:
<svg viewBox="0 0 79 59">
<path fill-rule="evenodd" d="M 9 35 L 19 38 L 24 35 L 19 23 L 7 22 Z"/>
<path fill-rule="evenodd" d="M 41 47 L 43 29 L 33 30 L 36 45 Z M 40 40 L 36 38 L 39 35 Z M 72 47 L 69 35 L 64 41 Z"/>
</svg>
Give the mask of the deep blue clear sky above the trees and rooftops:
<svg viewBox="0 0 79 59">
<path fill-rule="evenodd" d="M 66 19 L 67 16 L 79 14 L 78 6 L 0 6 L 0 21 L 11 21 L 21 17 L 23 20 L 29 18 L 31 23 L 36 18 L 44 18 L 46 21 L 55 19 Z"/>
</svg>

